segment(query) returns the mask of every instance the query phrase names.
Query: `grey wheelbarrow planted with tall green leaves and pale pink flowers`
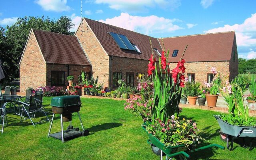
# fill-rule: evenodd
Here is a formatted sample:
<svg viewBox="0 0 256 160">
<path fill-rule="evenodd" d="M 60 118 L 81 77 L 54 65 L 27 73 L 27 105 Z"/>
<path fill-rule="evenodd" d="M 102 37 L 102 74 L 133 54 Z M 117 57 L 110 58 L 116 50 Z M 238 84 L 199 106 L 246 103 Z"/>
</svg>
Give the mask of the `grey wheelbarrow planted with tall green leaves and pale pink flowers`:
<svg viewBox="0 0 256 160">
<path fill-rule="evenodd" d="M 221 94 L 228 103 L 228 113 L 215 115 L 220 126 L 220 138 L 227 142 L 227 148 L 232 150 L 234 139 L 239 137 L 256 137 L 256 121 L 249 116 L 249 108 L 244 105 L 246 84 L 236 78 L 231 84 L 222 88 Z M 231 148 L 229 145 L 231 140 Z M 252 143 L 252 142 L 250 142 Z M 252 144 L 250 144 L 252 145 Z M 250 149 L 252 149 L 250 147 Z"/>
</svg>

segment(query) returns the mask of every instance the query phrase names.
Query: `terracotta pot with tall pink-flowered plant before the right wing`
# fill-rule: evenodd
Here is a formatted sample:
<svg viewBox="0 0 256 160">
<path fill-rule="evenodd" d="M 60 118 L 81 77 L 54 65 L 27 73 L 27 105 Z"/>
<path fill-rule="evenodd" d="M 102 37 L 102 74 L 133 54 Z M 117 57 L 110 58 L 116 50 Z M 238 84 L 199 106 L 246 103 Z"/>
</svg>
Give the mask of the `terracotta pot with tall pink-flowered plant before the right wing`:
<svg viewBox="0 0 256 160">
<path fill-rule="evenodd" d="M 221 78 L 220 73 L 217 72 L 216 68 L 211 68 L 212 73 L 214 74 L 214 78 L 211 83 L 205 83 L 205 85 L 209 88 L 209 93 L 205 95 L 207 106 L 208 107 L 216 107 L 218 96 L 220 91 L 219 88 L 221 86 Z"/>
</svg>

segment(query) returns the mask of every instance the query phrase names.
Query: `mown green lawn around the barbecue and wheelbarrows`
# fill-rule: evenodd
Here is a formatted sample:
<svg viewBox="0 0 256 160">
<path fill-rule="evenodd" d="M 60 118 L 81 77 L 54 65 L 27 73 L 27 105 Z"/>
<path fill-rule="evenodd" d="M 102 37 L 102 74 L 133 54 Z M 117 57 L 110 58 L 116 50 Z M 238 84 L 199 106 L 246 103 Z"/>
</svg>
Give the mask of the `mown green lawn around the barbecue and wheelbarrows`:
<svg viewBox="0 0 256 160">
<path fill-rule="evenodd" d="M 44 106 L 48 111 L 51 98 L 44 97 Z M 158 160 L 146 143 L 147 135 L 142 130 L 141 117 L 124 110 L 124 101 L 96 98 L 81 98 L 80 115 L 89 136 L 75 138 L 62 143 L 61 140 L 47 138 L 50 123 L 30 125 L 26 120 L 20 124 L 19 116 L 7 114 L 9 125 L 0 135 L 0 159 L 17 160 Z M 192 118 L 198 123 L 200 134 L 209 140 L 226 146 L 219 138 L 219 126 L 214 114 L 218 112 L 184 108 L 181 117 Z M 39 121 L 37 117 L 35 121 Z M 76 113 L 72 116 L 74 127 L 80 127 Z M 64 122 L 64 128 L 69 125 Z M 81 128 L 81 127 L 80 127 Z M 60 131 L 60 116 L 57 115 L 52 127 L 53 132 Z M 255 146 L 255 143 L 254 143 Z M 211 160 L 255 160 L 256 149 L 249 151 L 234 144 L 234 151 L 208 149 L 194 152 L 191 159 Z"/>
</svg>

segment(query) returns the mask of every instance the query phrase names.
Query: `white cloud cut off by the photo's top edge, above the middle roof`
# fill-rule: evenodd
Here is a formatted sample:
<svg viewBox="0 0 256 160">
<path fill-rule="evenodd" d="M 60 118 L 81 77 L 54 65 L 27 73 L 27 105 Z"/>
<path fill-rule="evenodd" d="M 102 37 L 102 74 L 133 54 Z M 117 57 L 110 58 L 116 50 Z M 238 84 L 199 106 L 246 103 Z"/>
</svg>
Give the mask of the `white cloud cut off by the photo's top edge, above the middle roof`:
<svg viewBox="0 0 256 160">
<path fill-rule="evenodd" d="M 168 10 L 178 8 L 180 0 L 95 0 L 96 4 L 108 4 L 109 8 L 122 12 L 145 12 L 156 6 Z"/>
</svg>

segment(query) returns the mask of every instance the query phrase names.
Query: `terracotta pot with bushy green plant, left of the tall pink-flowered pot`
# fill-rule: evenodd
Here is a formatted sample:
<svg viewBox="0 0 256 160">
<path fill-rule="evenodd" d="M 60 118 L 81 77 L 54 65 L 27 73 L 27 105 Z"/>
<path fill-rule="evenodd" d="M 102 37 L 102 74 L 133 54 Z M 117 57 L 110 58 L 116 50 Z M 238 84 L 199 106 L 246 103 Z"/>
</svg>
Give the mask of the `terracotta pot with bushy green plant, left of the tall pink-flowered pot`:
<svg viewBox="0 0 256 160">
<path fill-rule="evenodd" d="M 195 105 L 198 96 L 198 87 L 200 83 L 187 82 L 186 83 L 186 95 L 188 96 L 188 104 Z"/>
</svg>

